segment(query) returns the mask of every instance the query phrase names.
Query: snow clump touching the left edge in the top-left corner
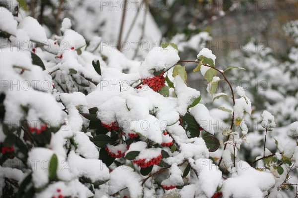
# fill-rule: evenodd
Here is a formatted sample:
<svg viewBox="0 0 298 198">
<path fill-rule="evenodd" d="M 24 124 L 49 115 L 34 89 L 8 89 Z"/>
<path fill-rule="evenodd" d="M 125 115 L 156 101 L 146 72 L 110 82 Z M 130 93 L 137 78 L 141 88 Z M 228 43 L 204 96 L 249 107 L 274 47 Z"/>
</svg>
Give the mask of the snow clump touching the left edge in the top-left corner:
<svg viewBox="0 0 298 198">
<path fill-rule="evenodd" d="M 5 7 L 0 9 L 0 30 L 9 34 L 16 34 L 17 22 L 14 20 L 12 13 Z"/>
</svg>

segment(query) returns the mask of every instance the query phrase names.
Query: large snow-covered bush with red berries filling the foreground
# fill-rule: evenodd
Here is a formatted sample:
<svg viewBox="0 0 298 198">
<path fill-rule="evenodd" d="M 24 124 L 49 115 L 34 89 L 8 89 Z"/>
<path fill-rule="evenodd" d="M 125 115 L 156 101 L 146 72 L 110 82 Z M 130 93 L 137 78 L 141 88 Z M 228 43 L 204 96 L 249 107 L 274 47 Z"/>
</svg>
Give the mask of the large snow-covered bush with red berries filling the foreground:
<svg viewBox="0 0 298 198">
<path fill-rule="evenodd" d="M 233 109 L 222 110 L 232 118 L 222 133 L 200 92 L 187 87 L 177 45 L 163 43 L 138 62 L 100 51 L 98 37 L 87 45 L 68 18 L 51 38 L 30 16 L 1 8 L 0 18 L 2 197 L 278 197 L 293 187 L 298 147 L 275 139 L 271 154 L 266 138 L 276 121 L 268 111 L 264 152 L 252 164 L 264 163 L 241 160 L 252 103 L 226 78 L 232 67 L 217 68 L 207 48 L 186 62 L 197 64 L 213 99 L 228 95 L 216 93 L 221 80 L 230 85 Z M 297 132 L 294 122 L 288 135 Z"/>
</svg>

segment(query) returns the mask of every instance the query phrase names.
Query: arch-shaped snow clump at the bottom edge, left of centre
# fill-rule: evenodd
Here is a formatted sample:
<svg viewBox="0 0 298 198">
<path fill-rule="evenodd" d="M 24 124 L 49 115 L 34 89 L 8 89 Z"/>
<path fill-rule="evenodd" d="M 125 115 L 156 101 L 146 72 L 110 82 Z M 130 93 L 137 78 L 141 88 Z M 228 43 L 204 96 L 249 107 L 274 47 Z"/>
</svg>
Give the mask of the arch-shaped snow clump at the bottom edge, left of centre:
<svg viewBox="0 0 298 198">
<path fill-rule="evenodd" d="M 120 179 L 121 178 L 121 179 Z M 111 172 L 109 181 L 110 195 L 123 188 L 128 188 L 130 197 L 138 198 L 142 194 L 142 177 L 128 166 L 119 166 Z"/>
</svg>

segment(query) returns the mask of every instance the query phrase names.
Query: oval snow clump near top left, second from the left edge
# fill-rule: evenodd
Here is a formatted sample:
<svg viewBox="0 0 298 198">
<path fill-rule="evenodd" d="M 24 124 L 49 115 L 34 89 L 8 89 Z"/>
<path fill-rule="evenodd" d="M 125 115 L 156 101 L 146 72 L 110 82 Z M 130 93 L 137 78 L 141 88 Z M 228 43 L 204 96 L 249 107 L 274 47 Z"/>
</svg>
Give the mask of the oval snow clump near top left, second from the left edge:
<svg viewBox="0 0 298 198">
<path fill-rule="evenodd" d="M 35 18 L 31 16 L 25 17 L 20 23 L 18 28 L 24 30 L 31 40 L 38 42 L 47 41 L 45 29 L 38 23 Z"/>
</svg>

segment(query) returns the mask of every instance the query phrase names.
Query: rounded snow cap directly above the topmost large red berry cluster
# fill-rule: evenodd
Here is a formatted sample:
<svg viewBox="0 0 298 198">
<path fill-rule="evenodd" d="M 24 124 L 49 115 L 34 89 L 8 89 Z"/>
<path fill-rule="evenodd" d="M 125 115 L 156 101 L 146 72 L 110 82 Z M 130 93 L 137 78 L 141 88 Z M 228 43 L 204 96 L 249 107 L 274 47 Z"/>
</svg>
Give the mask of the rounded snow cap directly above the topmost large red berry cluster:
<svg viewBox="0 0 298 198">
<path fill-rule="evenodd" d="M 158 47 L 150 50 L 140 66 L 139 73 L 142 78 L 153 77 L 153 72 L 167 70 L 179 61 L 178 51 L 172 46 Z"/>
</svg>

